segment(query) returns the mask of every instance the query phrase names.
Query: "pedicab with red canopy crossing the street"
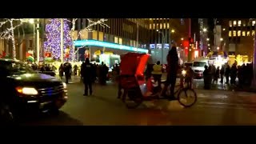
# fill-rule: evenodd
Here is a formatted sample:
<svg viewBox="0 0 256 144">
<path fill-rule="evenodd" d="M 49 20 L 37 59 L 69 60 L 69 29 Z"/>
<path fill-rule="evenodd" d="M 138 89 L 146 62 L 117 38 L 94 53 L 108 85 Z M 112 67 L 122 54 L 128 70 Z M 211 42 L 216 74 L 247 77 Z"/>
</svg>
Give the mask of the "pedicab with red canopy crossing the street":
<svg viewBox="0 0 256 144">
<path fill-rule="evenodd" d="M 149 78 L 146 82 L 144 70 L 149 58 L 150 54 L 127 53 L 121 55 L 119 86 L 123 90 L 122 100 L 126 103 L 127 108 L 136 108 L 143 101 L 170 100 L 170 89 L 166 90 L 167 97 L 162 97 L 162 89 L 158 90 L 158 84 L 155 85 L 156 82 L 153 78 Z M 182 75 L 185 74 L 186 71 L 182 70 Z M 193 106 L 197 101 L 197 94 L 191 87 L 184 86 L 183 78 L 180 83 L 175 86 L 178 87 L 178 90 L 174 92 L 175 100 L 178 100 L 184 107 Z"/>
</svg>

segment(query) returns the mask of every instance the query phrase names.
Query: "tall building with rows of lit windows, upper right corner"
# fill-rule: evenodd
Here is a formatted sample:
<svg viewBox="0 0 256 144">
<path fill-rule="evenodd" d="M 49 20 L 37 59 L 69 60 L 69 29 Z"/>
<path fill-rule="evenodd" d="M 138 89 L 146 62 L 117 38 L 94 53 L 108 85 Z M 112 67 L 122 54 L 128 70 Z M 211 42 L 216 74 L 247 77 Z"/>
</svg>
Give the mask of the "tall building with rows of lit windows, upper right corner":
<svg viewBox="0 0 256 144">
<path fill-rule="evenodd" d="M 222 37 L 230 55 L 242 55 L 249 62 L 254 54 L 255 20 L 230 18 L 222 20 Z"/>
</svg>

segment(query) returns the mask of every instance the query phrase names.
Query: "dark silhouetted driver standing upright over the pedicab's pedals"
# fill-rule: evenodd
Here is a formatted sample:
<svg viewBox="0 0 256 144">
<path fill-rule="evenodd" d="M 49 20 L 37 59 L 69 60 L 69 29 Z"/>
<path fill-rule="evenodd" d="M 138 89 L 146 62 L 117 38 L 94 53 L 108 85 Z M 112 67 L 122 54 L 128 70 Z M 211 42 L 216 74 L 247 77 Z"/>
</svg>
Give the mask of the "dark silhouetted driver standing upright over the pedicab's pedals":
<svg viewBox="0 0 256 144">
<path fill-rule="evenodd" d="M 167 54 L 167 80 L 162 95 L 166 96 L 166 89 L 170 85 L 170 99 L 174 99 L 174 88 L 176 84 L 177 71 L 178 71 L 178 53 L 176 46 L 172 46 Z"/>
</svg>

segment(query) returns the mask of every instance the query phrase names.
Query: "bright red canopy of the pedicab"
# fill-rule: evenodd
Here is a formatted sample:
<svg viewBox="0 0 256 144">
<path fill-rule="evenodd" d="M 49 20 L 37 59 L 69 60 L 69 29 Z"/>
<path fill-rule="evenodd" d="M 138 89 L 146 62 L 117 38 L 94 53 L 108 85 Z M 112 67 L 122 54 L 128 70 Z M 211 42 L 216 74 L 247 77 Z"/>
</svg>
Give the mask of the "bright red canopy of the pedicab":
<svg viewBox="0 0 256 144">
<path fill-rule="evenodd" d="M 120 64 L 120 75 L 143 76 L 148 58 L 150 58 L 150 54 L 122 54 Z"/>
</svg>

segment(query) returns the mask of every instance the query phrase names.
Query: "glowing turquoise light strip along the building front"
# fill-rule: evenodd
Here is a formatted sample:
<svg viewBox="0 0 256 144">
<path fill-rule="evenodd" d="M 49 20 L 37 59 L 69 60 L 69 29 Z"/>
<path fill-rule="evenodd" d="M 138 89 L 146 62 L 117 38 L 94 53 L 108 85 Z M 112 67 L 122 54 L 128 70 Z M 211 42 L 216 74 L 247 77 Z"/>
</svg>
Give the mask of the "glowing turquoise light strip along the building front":
<svg viewBox="0 0 256 144">
<path fill-rule="evenodd" d="M 74 46 L 101 46 L 101 47 L 108 47 L 108 48 L 118 49 L 118 50 L 138 51 L 141 53 L 148 53 L 149 51 L 146 49 L 136 48 L 132 46 L 124 46 L 116 43 L 102 42 L 102 41 L 96 41 L 96 40 L 74 41 Z"/>
</svg>

